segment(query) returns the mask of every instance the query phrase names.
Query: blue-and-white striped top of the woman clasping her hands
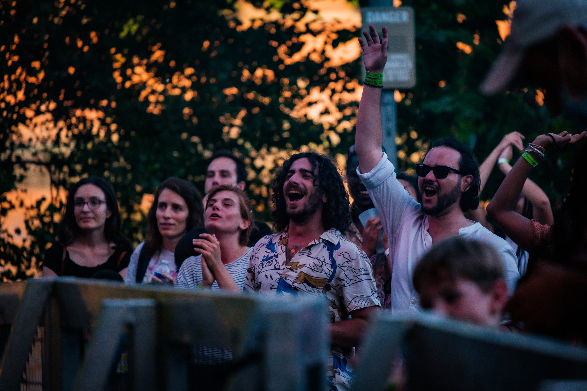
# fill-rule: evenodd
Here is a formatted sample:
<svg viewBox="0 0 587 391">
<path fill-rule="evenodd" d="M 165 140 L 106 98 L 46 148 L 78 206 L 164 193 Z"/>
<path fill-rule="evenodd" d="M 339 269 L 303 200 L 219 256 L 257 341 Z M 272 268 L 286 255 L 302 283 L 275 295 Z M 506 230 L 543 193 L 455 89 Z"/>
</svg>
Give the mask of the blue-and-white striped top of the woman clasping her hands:
<svg viewBox="0 0 587 391">
<path fill-rule="evenodd" d="M 239 289 L 245 284 L 245 275 L 247 274 L 247 267 L 249 266 L 249 259 L 251 258 L 253 248 L 250 247 L 247 252 L 239 259 L 225 264 L 228 274 L 232 277 Z M 181 264 L 180 271 L 177 273 L 176 288 L 195 289 L 198 284 L 202 282 L 202 256 L 189 257 Z M 211 290 L 219 290 L 218 281 L 210 287 Z"/>
</svg>

